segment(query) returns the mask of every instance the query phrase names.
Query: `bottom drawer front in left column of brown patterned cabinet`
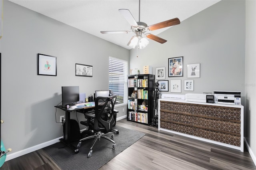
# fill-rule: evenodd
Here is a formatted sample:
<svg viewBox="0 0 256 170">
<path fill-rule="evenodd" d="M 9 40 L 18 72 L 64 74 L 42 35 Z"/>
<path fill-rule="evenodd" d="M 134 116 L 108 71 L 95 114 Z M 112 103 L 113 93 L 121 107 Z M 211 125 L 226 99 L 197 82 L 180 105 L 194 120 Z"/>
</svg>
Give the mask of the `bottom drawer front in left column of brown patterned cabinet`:
<svg viewBox="0 0 256 170">
<path fill-rule="evenodd" d="M 176 132 L 181 132 L 181 133 L 191 134 L 191 135 L 193 135 L 193 130 L 194 130 L 192 126 L 180 125 L 176 123 L 166 122 L 164 120 L 161 120 L 160 128 L 165 128 L 168 130 L 173 130 Z"/>
</svg>

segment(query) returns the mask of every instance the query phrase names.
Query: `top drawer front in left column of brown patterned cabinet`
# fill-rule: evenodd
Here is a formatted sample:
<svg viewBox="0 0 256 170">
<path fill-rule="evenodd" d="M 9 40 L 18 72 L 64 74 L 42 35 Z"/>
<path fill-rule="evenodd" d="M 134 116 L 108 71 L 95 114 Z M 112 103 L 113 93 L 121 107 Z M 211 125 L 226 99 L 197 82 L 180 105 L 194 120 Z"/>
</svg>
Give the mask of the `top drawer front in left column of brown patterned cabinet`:
<svg viewBox="0 0 256 170">
<path fill-rule="evenodd" d="M 160 108 L 163 110 L 178 112 L 178 113 L 193 113 L 193 106 L 184 103 L 160 102 Z"/>
</svg>

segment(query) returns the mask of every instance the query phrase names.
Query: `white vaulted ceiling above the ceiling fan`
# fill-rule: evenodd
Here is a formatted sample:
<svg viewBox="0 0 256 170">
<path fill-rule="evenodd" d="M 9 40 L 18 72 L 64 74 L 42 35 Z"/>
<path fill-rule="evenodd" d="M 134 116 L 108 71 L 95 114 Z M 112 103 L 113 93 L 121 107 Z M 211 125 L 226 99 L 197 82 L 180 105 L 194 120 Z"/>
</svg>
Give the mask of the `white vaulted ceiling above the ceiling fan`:
<svg viewBox="0 0 256 170">
<path fill-rule="evenodd" d="M 78 28 L 84 32 L 120 45 L 126 49 L 135 34 L 101 34 L 100 31 L 130 31 L 130 25 L 118 12 L 128 9 L 139 20 L 139 0 L 9 0 L 30 10 Z M 141 0 L 140 22 L 148 26 L 179 18 L 180 22 L 220 0 Z M 176 25 L 175 27 L 178 27 Z M 168 27 L 170 28 L 170 27 Z M 167 30 L 150 32 L 157 35 Z M 165 39 L 164 37 L 161 37 Z M 167 40 L 167 39 L 166 39 Z M 153 40 L 149 40 L 150 41 Z M 168 41 L 168 40 L 167 40 Z"/>
</svg>

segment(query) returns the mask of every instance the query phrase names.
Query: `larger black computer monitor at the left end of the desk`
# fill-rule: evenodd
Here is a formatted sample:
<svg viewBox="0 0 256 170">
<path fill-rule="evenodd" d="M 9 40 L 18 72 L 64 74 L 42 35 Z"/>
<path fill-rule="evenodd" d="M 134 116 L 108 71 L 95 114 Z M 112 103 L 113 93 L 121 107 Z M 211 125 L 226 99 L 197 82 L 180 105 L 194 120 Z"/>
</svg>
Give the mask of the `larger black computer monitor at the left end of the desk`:
<svg viewBox="0 0 256 170">
<path fill-rule="evenodd" d="M 62 86 L 62 106 L 74 105 L 79 101 L 79 86 Z"/>
</svg>

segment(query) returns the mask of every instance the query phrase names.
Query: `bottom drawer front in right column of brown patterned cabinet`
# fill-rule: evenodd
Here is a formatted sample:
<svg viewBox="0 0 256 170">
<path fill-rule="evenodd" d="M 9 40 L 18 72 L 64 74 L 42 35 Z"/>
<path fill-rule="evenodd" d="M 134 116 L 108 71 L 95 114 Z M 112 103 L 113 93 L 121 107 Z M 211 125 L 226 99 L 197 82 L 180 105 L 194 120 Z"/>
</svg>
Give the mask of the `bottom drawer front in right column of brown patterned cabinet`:
<svg viewBox="0 0 256 170">
<path fill-rule="evenodd" d="M 240 136 L 194 127 L 194 136 L 240 146 Z"/>
</svg>

